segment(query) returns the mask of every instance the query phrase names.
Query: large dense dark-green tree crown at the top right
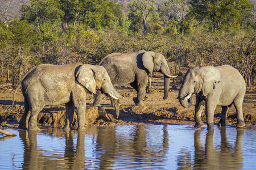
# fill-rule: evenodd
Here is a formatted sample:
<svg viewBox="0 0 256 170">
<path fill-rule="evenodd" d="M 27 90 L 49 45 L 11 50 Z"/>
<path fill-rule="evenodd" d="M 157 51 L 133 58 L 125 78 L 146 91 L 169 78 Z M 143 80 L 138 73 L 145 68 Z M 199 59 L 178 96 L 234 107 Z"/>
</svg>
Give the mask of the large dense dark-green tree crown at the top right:
<svg viewBox="0 0 256 170">
<path fill-rule="evenodd" d="M 202 22 L 206 20 L 212 31 L 222 24 L 239 23 L 250 16 L 253 6 L 248 0 L 191 0 L 190 16 Z"/>
</svg>

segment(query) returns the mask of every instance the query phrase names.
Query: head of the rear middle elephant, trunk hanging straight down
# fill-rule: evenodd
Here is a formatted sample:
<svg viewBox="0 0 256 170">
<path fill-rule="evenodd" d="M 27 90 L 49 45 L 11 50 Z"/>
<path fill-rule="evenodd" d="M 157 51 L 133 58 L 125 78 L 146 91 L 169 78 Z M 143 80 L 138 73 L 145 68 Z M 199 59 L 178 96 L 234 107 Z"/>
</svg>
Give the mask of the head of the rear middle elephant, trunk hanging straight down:
<svg viewBox="0 0 256 170">
<path fill-rule="evenodd" d="M 167 99 L 170 78 L 174 78 L 176 76 L 170 75 L 170 69 L 166 58 L 160 53 L 154 52 L 145 52 L 142 55 L 143 66 L 152 74 L 153 71 L 159 71 L 164 75 L 164 97 L 163 99 Z"/>
</svg>

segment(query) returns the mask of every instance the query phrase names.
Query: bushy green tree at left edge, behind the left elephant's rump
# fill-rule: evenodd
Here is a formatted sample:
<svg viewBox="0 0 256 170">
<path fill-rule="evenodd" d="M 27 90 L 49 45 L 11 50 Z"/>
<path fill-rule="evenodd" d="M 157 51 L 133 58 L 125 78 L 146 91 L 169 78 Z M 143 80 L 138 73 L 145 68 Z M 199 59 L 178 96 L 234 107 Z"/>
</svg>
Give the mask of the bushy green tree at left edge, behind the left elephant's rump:
<svg viewBox="0 0 256 170">
<path fill-rule="evenodd" d="M 34 42 L 34 26 L 26 20 L 14 19 L 7 27 L 0 24 L 0 61 L 1 74 L 6 74 L 6 82 L 12 75 L 14 84 L 16 76 L 22 77 L 31 58 Z M 6 69 L 3 70 L 3 67 Z"/>
</svg>

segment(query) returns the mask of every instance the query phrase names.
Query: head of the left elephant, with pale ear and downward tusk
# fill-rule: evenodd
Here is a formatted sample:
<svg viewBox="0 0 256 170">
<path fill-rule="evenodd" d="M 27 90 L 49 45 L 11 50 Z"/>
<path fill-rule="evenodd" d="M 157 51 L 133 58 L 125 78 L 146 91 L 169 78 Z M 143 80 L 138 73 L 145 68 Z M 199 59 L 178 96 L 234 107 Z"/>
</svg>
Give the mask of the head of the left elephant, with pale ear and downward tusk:
<svg viewBox="0 0 256 170">
<path fill-rule="evenodd" d="M 76 73 L 77 82 L 82 84 L 88 91 L 96 94 L 96 90 L 108 94 L 114 99 L 119 99 L 120 95 L 113 87 L 109 75 L 102 66 L 81 65 Z"/>
</svg>

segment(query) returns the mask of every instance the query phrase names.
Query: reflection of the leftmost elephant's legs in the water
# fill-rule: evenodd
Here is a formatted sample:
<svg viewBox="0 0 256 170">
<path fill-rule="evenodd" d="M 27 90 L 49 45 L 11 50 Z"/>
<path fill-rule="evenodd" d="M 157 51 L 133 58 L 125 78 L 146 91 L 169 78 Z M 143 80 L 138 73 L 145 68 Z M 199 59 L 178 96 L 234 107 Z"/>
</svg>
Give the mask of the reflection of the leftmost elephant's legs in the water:
<svg viewBox="0 0 256 170">
<path fill-rule="evenodd" d="M 55 129 L 53 135 L 62 131 Z M 45 132 L 49 135 L 49 131 Z M 73 144 L 72 131 L 65 134 L 65 154 L 48 156 L 47 151 L 38 146 L 37 135 L 39 131 L 19 130 L 19 136 L 24 143 L 24 158 L 22 169 L 84 169 L 85 168 L 85 134 L 79 132 L 76 147 Z M 63 134 L 63 133 L 61 133 Z M 75 150 L 76 148 L 76 150 Z"/>
</svg>

